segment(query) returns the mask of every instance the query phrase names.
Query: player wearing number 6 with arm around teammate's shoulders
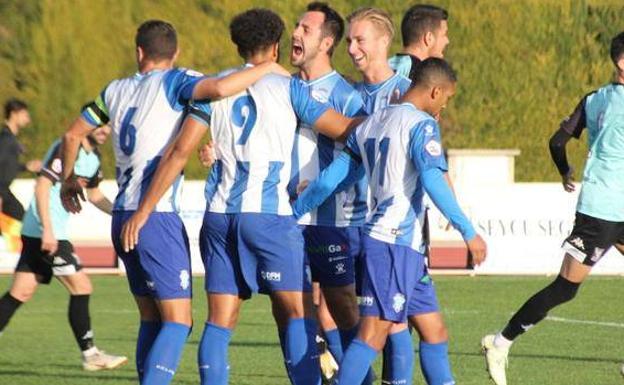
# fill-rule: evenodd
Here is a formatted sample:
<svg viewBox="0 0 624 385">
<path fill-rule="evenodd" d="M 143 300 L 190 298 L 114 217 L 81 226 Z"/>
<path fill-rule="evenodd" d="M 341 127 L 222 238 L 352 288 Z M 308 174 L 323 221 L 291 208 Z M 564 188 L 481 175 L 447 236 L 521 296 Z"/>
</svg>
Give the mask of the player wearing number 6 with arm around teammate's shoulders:
<svg viewBox="0 0 624 385">
<path fill-rule="evenodd" d="M 89 132 L 109 123 L 119 186 L 111 232 L 141 317 L 137 372 L 142 384 L 164 385 L 173 378 L 192 323 L 188 237 L 177 214 L 183 175 L 149 216 L 138 247 L 123 248 L 119 234 L 175 139 L 189 100 L 230 95 L 280 67 L 267 64 L 221 79 L 174 68 L 175 29 L 161 20 L 139 26 L 135 41 L 139 73 L 110 82 L 65 133 L 61 198 L 69 211 L 80 210 L 82 187 L 72 175 L 78 147 Z"/>
</svg>

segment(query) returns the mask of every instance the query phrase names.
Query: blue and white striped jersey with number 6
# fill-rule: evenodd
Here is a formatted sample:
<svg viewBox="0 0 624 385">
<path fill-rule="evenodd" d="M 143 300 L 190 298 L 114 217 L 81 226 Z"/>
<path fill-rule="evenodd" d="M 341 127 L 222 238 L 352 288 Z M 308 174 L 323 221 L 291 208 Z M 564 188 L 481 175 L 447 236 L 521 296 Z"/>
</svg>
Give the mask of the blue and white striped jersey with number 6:
<svg viewBox="0 0 624 385">
<path fill-rule="evenodd" d="M 112 128 L 119 186 L 113 210 L 137 209 L 200 79 L 194 71 L 169 69 L 113 80 L 83 110 L 82 117 L 91 125 L 108 123 Z M 177 177 L 155 211 L 179 210 L 183 178 Z"/>
</svg>

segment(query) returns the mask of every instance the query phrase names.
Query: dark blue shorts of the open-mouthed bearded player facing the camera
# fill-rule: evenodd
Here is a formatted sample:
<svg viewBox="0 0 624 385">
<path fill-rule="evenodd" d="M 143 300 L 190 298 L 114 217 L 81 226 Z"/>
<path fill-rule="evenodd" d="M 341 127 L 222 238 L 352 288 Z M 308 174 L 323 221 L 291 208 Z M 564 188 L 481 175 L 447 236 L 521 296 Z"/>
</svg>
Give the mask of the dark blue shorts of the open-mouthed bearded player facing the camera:
<svg viewBox="0 0 624 385">
<path fill-rule="evenodd" d="M 361 252 L 361 228 L 305 226 L 303 239 L 312 281 L 321 287 L 355 283 L 355 259 Z"/>
</svg>

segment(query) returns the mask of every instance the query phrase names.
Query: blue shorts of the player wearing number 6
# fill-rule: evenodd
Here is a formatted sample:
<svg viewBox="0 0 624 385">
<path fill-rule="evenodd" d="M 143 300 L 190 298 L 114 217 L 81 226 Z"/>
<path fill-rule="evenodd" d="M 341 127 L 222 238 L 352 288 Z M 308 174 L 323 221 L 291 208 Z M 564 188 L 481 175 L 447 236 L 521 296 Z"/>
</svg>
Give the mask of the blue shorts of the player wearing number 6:
<svg viewBox="0 0 624 385">
<path fill-rule="evenodd" d="M 139 243 L 126 253 L 121 246 L 121 229 L 133 213 L 113 212 L 111 229 L 132 294 L 160 300 L 191 298 L 191 257 L 182 219 L 176 213 L 151 213 L 139 232 Z"/>
</svg>

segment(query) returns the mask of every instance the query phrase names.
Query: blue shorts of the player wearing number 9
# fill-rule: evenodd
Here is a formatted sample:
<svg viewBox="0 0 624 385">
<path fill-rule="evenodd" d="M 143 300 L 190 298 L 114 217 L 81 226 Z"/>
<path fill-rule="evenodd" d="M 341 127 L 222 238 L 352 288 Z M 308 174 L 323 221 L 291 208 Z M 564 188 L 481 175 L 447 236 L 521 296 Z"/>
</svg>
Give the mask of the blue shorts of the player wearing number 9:
<svg viewBox="0 0 624 385">
<path fill-rule="evenodd" d="M 206 211 L 199 248 L 207 292 L 249 298 L 257 292 L 311 291 L 303 235 L 292 216 Z"/>
</svg>

